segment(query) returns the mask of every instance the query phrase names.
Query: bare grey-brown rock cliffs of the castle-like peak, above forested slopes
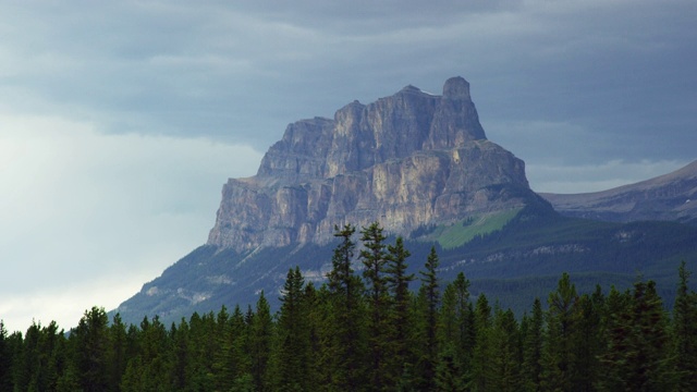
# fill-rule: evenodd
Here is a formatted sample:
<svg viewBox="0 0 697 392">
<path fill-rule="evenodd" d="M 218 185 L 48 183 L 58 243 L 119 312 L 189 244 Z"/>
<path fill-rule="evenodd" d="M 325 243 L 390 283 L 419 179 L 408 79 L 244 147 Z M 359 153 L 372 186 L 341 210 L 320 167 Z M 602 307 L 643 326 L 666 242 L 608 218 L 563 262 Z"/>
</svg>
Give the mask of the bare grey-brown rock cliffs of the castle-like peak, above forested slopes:
<svg viewBox="0 0 697 392">
<path fill-rule="evenodd" d="M 462 77 L 442 96 L 407 86 L 334 119 L 288 126 L 255 176 L 231 179 L 208 243 L 235 250 L 325 243 L 333 226 L 379 221 L 407 234 L 523 207 L 525 164 L 487 140 Z"/>
</svg>

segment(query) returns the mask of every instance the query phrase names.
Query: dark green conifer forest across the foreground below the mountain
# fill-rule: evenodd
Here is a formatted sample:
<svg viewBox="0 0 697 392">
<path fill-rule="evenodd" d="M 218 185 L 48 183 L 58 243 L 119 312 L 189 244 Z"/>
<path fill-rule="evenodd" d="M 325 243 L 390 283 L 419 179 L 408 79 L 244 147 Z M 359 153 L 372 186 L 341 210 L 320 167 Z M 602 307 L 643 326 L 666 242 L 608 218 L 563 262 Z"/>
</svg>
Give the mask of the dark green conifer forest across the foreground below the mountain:
<svg viewBox="0 0 697 392">
<path fill-rule="evenodd" d="M 355 231 L 335 228 L 321 286 L 289 270 L 273 314 L 261 292 L 255 307 L 169 328 L 157 316 L 126 326 L 99 307 L 68 333 L 0 323 L 0 391 L 697 391 L 685 262 L 672 313 L 652 281 L 579 294 L 564 273 L 547 306 L 535 299 L 516 318 L 470 298 L 463 273 L 439 281 L 435 248 L 409 274 L 401 237 L 388 244 L 372 223 L 358 246 Z"/>
</svg>

